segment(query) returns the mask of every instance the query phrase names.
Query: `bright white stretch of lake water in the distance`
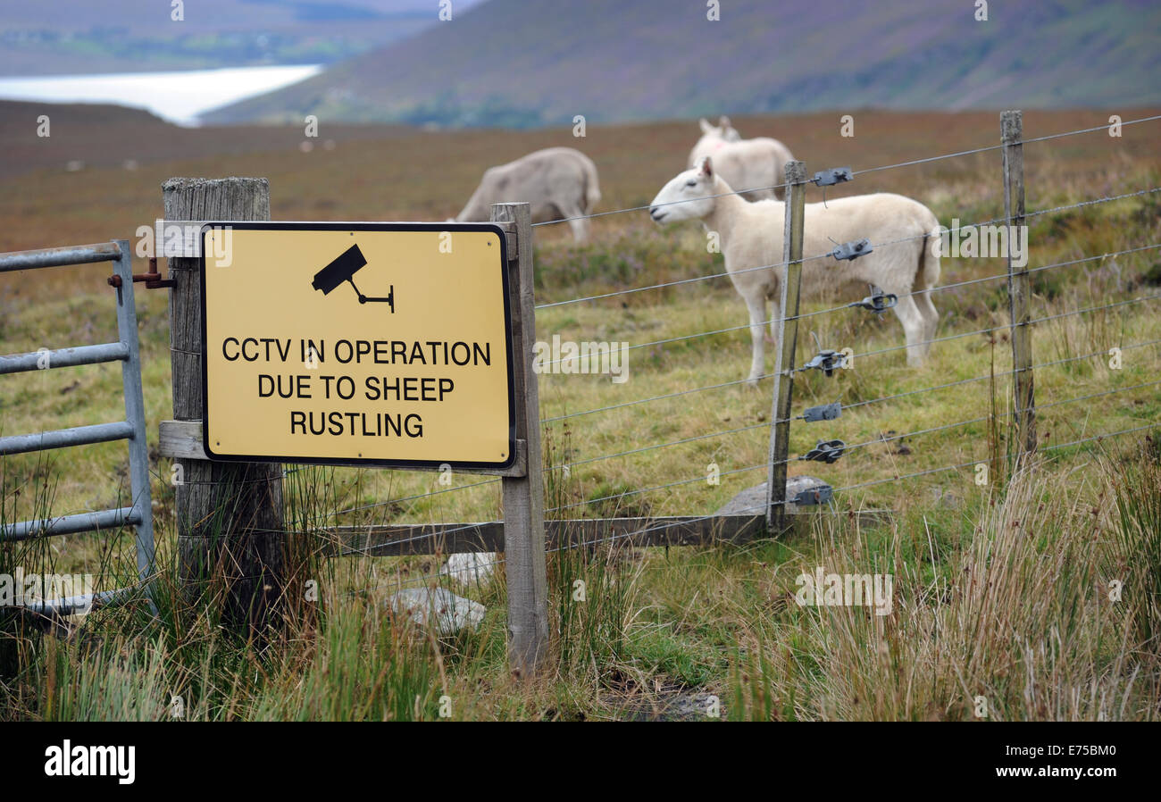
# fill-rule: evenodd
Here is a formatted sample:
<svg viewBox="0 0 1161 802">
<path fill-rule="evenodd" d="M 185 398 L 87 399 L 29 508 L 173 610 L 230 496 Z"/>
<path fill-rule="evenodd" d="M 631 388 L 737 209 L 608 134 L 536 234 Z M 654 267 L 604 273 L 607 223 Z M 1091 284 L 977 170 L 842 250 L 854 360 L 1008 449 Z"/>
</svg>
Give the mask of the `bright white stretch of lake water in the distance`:
<svg viewBox="0 0 1161 802">
<path fill-rule="evenodd" d="M 308 64 L 104 75 L 0 77 L 0 99 L 117 103 L 147 109 L 179 125 L 197 125 L 197 115 L 203 111 L 289 86 L 318 74 L 322 68 L 319 64 Z"/>
</svg>

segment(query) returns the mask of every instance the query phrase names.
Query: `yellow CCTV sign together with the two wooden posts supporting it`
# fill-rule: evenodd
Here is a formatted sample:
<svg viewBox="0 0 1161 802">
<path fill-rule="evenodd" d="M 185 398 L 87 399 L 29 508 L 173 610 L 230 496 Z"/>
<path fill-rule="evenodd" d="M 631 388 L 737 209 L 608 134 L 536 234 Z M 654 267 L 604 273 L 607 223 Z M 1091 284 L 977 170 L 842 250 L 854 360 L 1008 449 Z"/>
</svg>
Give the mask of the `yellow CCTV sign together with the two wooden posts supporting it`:
<svg viewBox="0 0 1161 802">
<path fill-rule="evenodd" d="M 282 598 L 282 462 L 503 477 L 510 666 L 548 657 L 527 203 L 490 223 L 269 223 L 265 179 L 173 179 L 179 573 L 225 578 L 226 620 Z M 185 237 L 182 238 L 185 241 Z M 185 246 L 182 246 L 185 247 Z"/>
</svg>

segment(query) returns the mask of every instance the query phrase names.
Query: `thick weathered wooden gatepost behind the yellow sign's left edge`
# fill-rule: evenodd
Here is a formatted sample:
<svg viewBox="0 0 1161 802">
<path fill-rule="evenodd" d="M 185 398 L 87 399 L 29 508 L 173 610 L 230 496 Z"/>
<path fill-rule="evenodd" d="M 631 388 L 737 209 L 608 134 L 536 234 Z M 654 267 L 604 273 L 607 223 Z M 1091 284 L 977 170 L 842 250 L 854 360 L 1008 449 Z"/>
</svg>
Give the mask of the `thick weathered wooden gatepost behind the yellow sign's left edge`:
<svg viewBox="0 0 1161 802">
<path fill-rule="evenodd" d="M 268 221 L 266 179 L 170 179 L 173 221 Z M 173 416 L 202 417 L 201 276 L 197 259 L 170 259 Z M 258 302 L 260 299 L 255 299 Z M 239 320 L 239 325 L 244 324 Z M 178 575 L 187 595 L 224 591 L 223 623 L 261 636 L 276 622 L 283 590 L 282 467 L 181 458 L 175 483 Z"/>
</svg>

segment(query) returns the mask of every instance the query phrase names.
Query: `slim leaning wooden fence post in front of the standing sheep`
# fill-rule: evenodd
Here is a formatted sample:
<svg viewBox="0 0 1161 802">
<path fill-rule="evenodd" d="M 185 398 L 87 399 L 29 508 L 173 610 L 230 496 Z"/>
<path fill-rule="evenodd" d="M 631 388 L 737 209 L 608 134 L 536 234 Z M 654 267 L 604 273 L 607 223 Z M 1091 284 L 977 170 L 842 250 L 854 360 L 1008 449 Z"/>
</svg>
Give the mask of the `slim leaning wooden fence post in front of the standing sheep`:
<svg viewBox="0 0 1161 802">
<path fill-rule="evenodd" d="M 802 214 L 806 207 L 806 164 L 786 162 L 786 205 L 783 227 L 781 306 L 778 315 L 774 399 L 770 412 L 770 472 L 766 478 L 766 526 L 771 534 L 786 528 L 786 457 L 789 454 L 791 400 L 794 392 L 794 349 L 798 346 L 799 291 L 802 286 Z"/>
</svg>

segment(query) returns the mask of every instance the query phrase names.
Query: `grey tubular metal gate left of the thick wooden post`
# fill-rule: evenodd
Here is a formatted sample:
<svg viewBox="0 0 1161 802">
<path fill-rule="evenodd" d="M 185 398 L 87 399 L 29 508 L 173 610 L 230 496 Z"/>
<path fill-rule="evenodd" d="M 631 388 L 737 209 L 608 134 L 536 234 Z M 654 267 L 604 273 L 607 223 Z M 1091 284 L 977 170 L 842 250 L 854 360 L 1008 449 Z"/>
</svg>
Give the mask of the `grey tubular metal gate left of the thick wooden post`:
<svg viewBox="0 0 1161 802">
<path fill-rule="evenodd" d="M 0 438 L 0 456 L 127 440 L 129 441 L 129 479 L 132 504 L 116 510 L 0 523 L 0 541 L 52 537 L 132 525 L 137 533 L 137 575 L 140 587 L 103 591 L 84 597 L 45 599 L 24 605 L 31 612 L 41 614 L 70 615 L 95 606 L 121 601 L 131 593 L 147 590 L 153 572 L 153 513 L 150 499 L 149 453 L 145 447 L 145 403 L 142 398 L 140 353 L 137 345 L 137 309 L 134 305 L 132 254 L 129 250 L 129 240 L 116 239 L 96 245 L 0 254 L 0 273 L 94 262 L 113 262 L 113 277 L 109 279 L 109 283 L 116 289 L 118 341 L 57 351 L 42 348 L 24 354 L 0 356 L 0 375 L 68 368 L 78 364 L 121 362 L 125 419 L 111 424 L 93 424 Z"/>
</svg>

